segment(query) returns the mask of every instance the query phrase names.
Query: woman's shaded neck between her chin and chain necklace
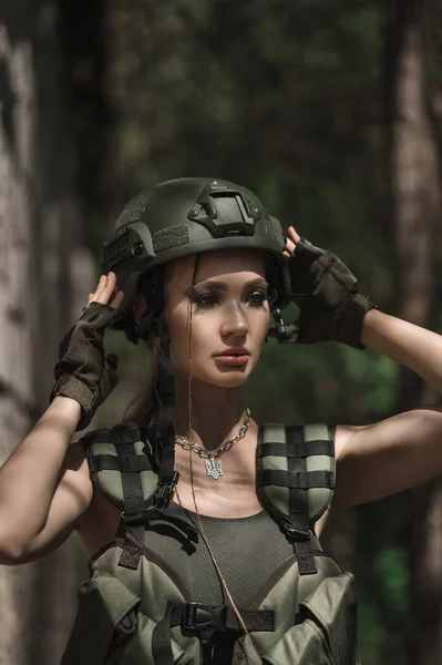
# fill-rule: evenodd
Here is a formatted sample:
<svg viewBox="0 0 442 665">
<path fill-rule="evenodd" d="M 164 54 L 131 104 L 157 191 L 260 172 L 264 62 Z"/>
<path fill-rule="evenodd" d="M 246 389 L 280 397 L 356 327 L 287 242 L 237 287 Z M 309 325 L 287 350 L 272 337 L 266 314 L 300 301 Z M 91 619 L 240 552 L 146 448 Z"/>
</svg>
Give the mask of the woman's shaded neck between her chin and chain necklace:
<svg viewBox="0 0 442 665">
<path fill-rule="evenodd" d="M 187 380 L 175 379 L 175 433 L 206 450 L 216 450 L 238 433 L 244 410 L 239 388 L 203 386 L 193 380 L 189 403 Z"/>
</svg>

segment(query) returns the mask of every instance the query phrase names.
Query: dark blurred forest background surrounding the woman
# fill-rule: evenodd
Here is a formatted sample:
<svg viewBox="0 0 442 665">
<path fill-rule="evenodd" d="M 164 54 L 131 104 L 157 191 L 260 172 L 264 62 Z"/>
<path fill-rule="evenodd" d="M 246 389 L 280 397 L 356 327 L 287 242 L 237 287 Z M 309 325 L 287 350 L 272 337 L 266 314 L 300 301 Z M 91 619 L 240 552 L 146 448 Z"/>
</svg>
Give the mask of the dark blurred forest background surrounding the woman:
<svg viewBox="0 0 442 665">
<path fill-rule="evenodd" d="M 441 2 L 0 0 L 0 461 L 48 407 L 120 211 L 162 180 L 246 185 L 380 309 L 442 330 Z M 91 427 L 119 421 L 146 375 L 141 347 L 106 340 L 124 378 Z M 258 421 L 287 423 L 438 399 L 337 344 L 268 344 L 247 395 Z M 343 513 L 326 545 L 356 573 L 363 664 L 441 663 L 441 482 Z M 58 662 L 86 575 L 74 536 L 0 569 L 1 665 Z"/>
</svg>

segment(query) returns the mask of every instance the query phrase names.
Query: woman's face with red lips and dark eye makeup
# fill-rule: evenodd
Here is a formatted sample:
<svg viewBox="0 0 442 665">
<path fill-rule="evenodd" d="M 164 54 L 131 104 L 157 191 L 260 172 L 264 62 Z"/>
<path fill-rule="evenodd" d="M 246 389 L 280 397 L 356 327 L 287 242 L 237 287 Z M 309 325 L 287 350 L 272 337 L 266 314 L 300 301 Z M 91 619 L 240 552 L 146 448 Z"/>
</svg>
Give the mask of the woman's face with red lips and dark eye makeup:
<svg viewBox="0 0 442 665">
<path fill-rule="evenodd" d="M 166 325 L 177 377 L 224 388 L 240 386 L 258 361 L 270 313 L 259 250 L 228 249 L 195 255 L 168 266 Z M 189 348 L 189 306 L 192 342 Z M 230 356 L 222 357 L 222 354 Z"/>
</svg>

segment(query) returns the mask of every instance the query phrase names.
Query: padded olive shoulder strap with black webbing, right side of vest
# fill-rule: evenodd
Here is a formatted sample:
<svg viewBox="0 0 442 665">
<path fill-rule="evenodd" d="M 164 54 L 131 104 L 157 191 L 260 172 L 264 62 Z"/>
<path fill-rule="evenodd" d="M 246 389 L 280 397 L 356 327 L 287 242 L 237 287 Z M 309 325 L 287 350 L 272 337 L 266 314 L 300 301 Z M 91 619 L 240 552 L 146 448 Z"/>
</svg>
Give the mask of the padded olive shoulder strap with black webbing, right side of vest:
<svg viewBox="0 0 442 665">
<path fill-rule="evenodd" d="M 260 502 L 294 544 L 299 574 L 316 573 L 310 525 L 327 509 L 335 487 L 330 428 L 267 424 L 259 431 L 256 457 Z M 309 461 L 313 458 L 318 462 Z M 316 492 L 315 509 L 309 492 Z"/>
</svg>

